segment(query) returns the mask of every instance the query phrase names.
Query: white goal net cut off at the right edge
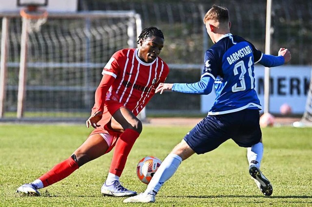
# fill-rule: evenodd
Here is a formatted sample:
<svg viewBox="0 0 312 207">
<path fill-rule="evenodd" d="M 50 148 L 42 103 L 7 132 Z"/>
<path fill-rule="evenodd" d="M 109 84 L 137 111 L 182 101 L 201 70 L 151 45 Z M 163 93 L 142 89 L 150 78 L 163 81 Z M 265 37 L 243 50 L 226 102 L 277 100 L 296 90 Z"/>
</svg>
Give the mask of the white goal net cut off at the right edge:
<svg viewBox="0 0 312 207">
<path fill-rule="evenodd" d="M 293 123 L 295 127 L 312 126 L 312 71 L 305 111 L 300 121 Z"/>
</svg>

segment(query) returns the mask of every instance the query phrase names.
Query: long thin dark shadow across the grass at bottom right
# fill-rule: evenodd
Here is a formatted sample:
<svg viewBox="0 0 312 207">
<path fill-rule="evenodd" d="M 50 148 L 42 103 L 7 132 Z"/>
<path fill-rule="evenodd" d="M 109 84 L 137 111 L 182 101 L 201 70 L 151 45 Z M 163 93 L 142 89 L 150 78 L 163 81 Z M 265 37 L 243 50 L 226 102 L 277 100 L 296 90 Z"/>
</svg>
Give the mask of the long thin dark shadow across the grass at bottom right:
<svg viewBox="0 0 312 207">
<path fill-rule="evenodd" d="M 187 195 L 187 196 L 164 196 L 167 198 L 312 198 L 312 196 L 284 195 L 284 196 L 263 196 L 263 195 Z"/>
</svg>

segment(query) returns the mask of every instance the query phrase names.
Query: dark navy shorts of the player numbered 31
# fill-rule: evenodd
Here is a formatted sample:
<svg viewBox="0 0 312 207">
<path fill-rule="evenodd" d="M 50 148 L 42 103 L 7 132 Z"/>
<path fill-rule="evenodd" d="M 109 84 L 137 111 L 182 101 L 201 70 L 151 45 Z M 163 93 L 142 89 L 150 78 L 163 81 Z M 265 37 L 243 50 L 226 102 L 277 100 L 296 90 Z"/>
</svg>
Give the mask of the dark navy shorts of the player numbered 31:
<svg viewBox="0 0 312 207">
<path fill-rule="evenodd" d="M 253 109 L 208 115 L 187 133 L 184 140 L 196 154 L 210 152 L 230 138 L 240 147 L 251 147 L 262 137 L 259 119 L 259 111 Z"/>
</svg>

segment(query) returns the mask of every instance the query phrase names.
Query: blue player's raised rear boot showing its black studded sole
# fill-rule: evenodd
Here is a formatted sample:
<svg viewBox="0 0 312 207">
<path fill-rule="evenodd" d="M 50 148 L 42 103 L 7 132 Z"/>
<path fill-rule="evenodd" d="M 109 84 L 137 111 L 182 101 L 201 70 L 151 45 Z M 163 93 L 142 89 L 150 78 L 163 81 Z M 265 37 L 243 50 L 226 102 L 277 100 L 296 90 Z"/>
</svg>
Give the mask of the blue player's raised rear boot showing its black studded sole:
<svg viewBox="0 0 312 207">
<path fill-rule="evenodd" d="M 249 173 L 254 178 L 254 182 L 264 195 L 272 195 L 273 187 L 270 181 L 261 173 L 257 166 L 251 165 L 249 167 Z"/>
</svg>

